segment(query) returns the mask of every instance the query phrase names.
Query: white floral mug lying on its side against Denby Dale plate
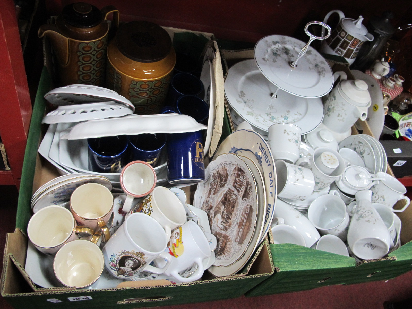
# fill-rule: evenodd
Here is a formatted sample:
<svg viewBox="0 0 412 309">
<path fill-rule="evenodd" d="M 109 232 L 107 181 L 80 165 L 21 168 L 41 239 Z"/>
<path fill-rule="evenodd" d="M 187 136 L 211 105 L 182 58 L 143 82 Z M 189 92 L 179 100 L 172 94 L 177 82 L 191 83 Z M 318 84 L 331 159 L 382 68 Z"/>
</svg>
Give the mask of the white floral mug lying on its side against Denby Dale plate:
<svg viewBox="0 0 412 309">
<path fill-rule="evenodd" d="M 315 180 L 310 169 L 283 160 L 275 162 L 278 197 L 304 201 L 313 192 Z"/>
</svg>

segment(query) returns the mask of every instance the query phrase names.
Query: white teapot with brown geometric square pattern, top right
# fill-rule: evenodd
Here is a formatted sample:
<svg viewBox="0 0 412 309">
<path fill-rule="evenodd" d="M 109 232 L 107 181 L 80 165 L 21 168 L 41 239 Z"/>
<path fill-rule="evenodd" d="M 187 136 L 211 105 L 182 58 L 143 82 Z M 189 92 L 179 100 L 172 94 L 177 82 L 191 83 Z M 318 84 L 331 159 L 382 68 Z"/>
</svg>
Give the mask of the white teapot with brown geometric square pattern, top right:
<svg viewBox="0 0 412 309">
<path fill-rule="evenodd" d="M 321 52 L 342 56 L 349 64 L 352 64 L 363 42 L 372 41 L 373 35 L 368 33 L 366 27 L 362 25 L 362 16 L 359 16 L 356 20 L 345 18 L 343 12 L 338 9 L 326 14 L 323 22 L 326 23 L 333 13 L 339 14 L 339 24 L 330 37 L 322 42 Z M 325 30 L 322 28 L 322 35 L 324 34 Z"/>
</svg>

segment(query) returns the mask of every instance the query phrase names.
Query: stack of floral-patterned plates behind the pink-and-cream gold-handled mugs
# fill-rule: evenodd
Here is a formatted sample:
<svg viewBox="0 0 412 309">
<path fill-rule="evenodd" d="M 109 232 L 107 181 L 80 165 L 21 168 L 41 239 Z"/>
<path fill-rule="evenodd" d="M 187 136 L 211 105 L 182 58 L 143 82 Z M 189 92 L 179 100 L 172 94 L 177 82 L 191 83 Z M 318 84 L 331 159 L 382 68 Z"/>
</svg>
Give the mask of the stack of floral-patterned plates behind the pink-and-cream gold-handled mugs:
<svg viewBox="0 0 412 309">
<path fill-rule="evenodd" d="M 85 183 L 99 183 L 104 185 L 109 190 L 112 190 L 112 183 L 102 176 L 84 176 L 78 177 L 79 174 L 73 174 L 73 178 L 58 183 L 48 190 L 44 191 L 36 200 L 31 203 L 31 209 L 33 213 L 39 211 L 43 207 L 50 205 L 61 205 L 70 200 L 70 195 L 76 190 L 77 187 L 84 185 Z"/>
</svg>

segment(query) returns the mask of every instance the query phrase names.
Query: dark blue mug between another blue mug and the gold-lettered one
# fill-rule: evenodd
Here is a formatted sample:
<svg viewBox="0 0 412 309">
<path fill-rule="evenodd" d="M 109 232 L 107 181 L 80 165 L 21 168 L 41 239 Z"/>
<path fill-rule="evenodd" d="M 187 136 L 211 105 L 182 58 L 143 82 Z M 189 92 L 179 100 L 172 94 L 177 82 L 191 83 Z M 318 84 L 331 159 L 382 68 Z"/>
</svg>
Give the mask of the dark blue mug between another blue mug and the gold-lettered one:
<svg viewBox="0 0 412 309">
<path fill-rule="evenodd" d="M 166 144 L 166 134 L 138 134 L 129 135 L 130 161 L 143 161 L 156 167 L 159 164 L 160 154 Z"/>
</svg>

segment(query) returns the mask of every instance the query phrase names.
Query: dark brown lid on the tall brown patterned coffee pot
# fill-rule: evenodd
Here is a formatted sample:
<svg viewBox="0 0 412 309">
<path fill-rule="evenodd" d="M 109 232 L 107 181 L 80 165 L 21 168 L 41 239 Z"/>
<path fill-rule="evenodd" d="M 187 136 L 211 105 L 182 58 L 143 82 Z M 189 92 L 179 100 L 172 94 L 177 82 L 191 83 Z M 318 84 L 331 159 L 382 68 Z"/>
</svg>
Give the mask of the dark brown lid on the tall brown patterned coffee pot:
<svg viewBox="0 0 412 309">
<path fill-rule="evenodd" d="M 85 2 L 66 5 L 61 14 L 66 23 L 76 28 L 96 27 L 103 20 L 101 10 Z"/>
</svg>

